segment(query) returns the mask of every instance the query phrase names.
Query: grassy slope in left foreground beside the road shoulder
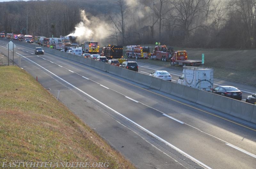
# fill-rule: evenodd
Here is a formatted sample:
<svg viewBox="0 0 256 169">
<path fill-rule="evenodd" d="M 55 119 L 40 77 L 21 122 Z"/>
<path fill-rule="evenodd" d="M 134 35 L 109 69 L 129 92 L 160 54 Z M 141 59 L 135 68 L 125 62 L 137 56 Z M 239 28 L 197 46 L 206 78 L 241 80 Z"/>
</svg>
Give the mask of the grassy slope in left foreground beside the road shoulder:
<svg viewBox="0 0 256 169">
<path fill-rule="evenodd" d="M 135 168 L 27 72 L 3 66 L 0 77 L 0 168 L 15 161 Z"/>
</svg>

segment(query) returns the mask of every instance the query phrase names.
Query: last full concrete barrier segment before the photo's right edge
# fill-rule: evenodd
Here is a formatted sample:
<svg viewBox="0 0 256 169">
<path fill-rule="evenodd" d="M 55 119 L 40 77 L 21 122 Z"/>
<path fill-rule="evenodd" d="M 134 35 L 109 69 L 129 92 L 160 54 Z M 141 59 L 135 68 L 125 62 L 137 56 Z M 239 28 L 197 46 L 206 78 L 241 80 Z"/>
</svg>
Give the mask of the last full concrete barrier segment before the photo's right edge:
<svg viewBox="0 0 256 169">
<path fill-rule="evenodd" d="M 240 119 L 251 121 L 253 113 L 253 105 L 232 99 L 230 115 Z"/>
</svg>

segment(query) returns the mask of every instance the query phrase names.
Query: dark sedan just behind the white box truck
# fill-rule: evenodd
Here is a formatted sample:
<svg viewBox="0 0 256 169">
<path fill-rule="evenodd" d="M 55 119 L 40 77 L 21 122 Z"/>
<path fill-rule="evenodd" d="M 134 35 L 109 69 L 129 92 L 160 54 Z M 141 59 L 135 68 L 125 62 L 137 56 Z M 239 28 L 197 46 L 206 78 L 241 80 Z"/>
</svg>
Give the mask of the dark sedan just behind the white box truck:
<svg viewBox="0 0 256 169">
<path fill-rule="evenodd" d="M 218 86 L 215 87 L 211 92 L 229 98 L 242 100 L 242 92 L 233 86 Z"/>
</svg>

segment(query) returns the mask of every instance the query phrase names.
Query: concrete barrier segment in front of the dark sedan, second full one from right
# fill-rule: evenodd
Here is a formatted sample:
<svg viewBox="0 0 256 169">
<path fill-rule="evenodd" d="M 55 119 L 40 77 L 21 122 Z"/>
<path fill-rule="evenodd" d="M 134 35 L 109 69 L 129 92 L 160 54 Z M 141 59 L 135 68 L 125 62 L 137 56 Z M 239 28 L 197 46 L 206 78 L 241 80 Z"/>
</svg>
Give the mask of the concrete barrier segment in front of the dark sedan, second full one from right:
<svg viewBox="0 0 256 169">
<path fill-rule="evenodd" d="M 220 112 L 230 114 L 232 107 L 232 99 L 214 94 L 212 108 Z"/>
</svg>

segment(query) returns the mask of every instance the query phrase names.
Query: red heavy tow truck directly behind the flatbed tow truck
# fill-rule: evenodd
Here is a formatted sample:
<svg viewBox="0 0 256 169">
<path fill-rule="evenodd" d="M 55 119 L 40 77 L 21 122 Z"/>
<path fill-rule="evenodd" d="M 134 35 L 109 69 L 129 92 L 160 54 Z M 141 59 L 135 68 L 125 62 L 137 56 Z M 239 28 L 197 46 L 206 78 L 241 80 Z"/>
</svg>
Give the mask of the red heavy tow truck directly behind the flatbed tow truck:
<svg viewBox="0 0 256 169">
<path fill-rule="evenodd" d="M 155 49 L 153 49 L 150 59 L 158 59 L 164 62 L 170 61 L 172 52 L 174 52 L 172 47 L 167 48 L 165 45 L 157 45 Z"/>
</svg>

